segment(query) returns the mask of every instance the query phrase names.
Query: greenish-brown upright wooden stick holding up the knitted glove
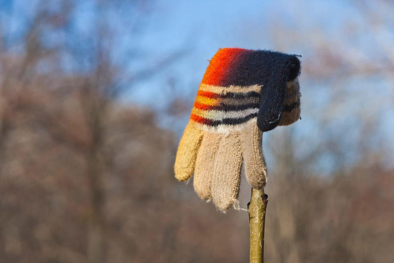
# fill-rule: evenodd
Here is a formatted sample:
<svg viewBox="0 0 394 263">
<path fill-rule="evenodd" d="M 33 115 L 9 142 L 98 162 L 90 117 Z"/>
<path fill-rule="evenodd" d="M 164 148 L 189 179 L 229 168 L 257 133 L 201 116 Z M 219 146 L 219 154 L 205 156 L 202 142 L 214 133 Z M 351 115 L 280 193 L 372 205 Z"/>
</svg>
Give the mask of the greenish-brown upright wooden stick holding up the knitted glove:
<svg viewBox="0 0 394 263">
<path fill-rule="evenodd" d="M 264 225 L 265 209 L 268 196 L 264 190 L 252 188 L 252 196 L 248 203 L 250 227 L 250 263 L 263 263 L 264 259 Z"/>
</svg>

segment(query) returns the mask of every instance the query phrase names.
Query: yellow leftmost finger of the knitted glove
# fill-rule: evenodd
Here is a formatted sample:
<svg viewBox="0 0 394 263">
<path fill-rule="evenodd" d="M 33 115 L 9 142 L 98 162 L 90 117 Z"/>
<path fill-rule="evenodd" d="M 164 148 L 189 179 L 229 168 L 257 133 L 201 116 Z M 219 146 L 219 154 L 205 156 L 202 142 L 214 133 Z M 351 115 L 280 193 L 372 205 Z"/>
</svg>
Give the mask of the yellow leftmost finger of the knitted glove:
<svg viewBox="0 0 394 263">
<path fill-rule="evenodd" d="M 188 180 L 194 172 L 202 134 L 202 130 L 194 122 L 190 121 L 185 128 L 176 152 L 174 165 L 175 178 L 179 181 Z"/>
</svg>

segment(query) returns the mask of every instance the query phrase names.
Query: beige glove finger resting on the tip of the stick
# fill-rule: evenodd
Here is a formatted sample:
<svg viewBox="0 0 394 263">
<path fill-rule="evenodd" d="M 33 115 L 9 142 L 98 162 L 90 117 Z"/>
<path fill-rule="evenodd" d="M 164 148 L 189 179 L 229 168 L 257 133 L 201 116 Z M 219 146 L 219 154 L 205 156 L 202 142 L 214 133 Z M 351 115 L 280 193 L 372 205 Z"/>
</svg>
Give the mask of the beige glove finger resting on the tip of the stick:
<svg viewBox="0 0 394 263">
<path fill-rule="evenodd" d="M 241 133 L 246 180 L 253 188 L 257 189 L 263 188 L 267 182 L 262 138 L 263 132 L 256 122 L 248 124 Z"/>
</svg>

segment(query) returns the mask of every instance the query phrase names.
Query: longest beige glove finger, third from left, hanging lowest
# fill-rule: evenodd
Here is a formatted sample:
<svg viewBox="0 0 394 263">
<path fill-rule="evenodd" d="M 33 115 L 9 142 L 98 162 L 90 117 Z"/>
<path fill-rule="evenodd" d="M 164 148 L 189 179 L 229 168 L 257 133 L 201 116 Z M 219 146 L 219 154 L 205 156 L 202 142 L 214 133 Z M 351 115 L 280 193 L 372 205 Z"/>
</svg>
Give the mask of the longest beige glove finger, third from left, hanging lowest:
<svg viewBox="0 0 394 263">
<path fill-rule="evenodd" d="M 219 210 L 227 210 L 237 201 L 241 165 L 240 133 L 222 135 L 212 175 L 212 199 Z"/>
</svg>

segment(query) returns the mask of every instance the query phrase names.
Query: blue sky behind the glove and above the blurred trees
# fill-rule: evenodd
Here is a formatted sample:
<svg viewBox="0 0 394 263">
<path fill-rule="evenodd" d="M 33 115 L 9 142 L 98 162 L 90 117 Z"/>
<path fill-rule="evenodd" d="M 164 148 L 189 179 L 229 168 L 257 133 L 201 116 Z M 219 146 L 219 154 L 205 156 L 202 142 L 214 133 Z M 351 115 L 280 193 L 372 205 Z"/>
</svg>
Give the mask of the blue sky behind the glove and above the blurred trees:
<svg viewBox="0 0 394 263">
<path fill-rule="evenodd" d="M 36 2 L 38 0 L 0 0 L 2 24 L 11 31 L 23 29 L 24 20 L 33 12 L 31 6 Z M 58 2 L 53 0 L 48 4 L 57 8 Z M 147 1 L 146 6 L 142 6 L 146 15 L 137 28 L 133 28 L 133 23 L 138 13 L 132 8 L 98 10 L 92 0 L 77 2 L 69 32 L 77 32 L 82 36 L 80 45 L 89 47 L 89 32 L 95 14 L 102 12 L 99 18 L 110 21 L 112 33 L 116 35 L 113 56 L 131 72 L 149 68 L 169 54 L 184 51 L 184 55 L 174 63 L 128 89 L 122 98 L 127 103 L 137 103 L 159 113 L 166 106 L 169 93 L 183 98 L 192 108 L 208 60 L 220 47 L 275 49 L 301 54 L 303 62 L 318 64 L 320 54 L 313 53 L 313 48 L 319 38 L 324 37 L 341 55 L 361 51 L 358 53 L 361 60 L 375 54 L 382 56 L 376 52 L 381 47 L 370 35 L 365 18 L 352 1 Z M 11 8 L 16 11 L 12 17 L 8 15 Z M 344 30 L 349 33 L 344 33 Z M 393 26 L 384 28 L 379 34 L 391 40 L 388 43 L 394 43 Z M 61 38 L 48 39 L 56 42 Z M 136 52 L 133 60 L 128 55 L 130 50 Z M 169 83 L 173 88 L 169 88 Z M 367 116 L 368 113 L 362 111 L 368 108 L 372 114 L 369 118 L 381 118 L 376 136 L 387 141 L 387 147 L 394 154 L 393 147 L 390 147 L 394 145 L 393 86 L 392 77 L 379 74 L 356 75 L 338 82 L 330 75 L 319 79 L 302 74 L 302 121 L 292 125 L 297 140 L 304 143 L 307 138 L 309 144 L 314 144 L 321 140 L 321 136 L 335 134 L 343 138 L 344 148 L 350 155 L 356 156 L 357 152 L 352 153 L 352 150 L 357 151 L 357 148 L 348 144 L 359 132 L 355 128 L 358 123 L 354 116 Z M 337 94 L 342 93 L 344 95 L 338 97 Z M 335 105 L 336 115 L 330 116 L 326 113 L 332 110 L 329 109 L 332 105 Z M 322 118 L 328 119 L 329 131 L 324 133 L 317 128 L 317 120 Z M 167 123 L 164 121 L 162 125 L 179 134 L 187 120 L 188 114 Z M 270 134 L 264 140 L 269 139 Z M 323 166 L 327 164 L 332 165 L 329 158 L 323 161 Z"/>
</svg>

